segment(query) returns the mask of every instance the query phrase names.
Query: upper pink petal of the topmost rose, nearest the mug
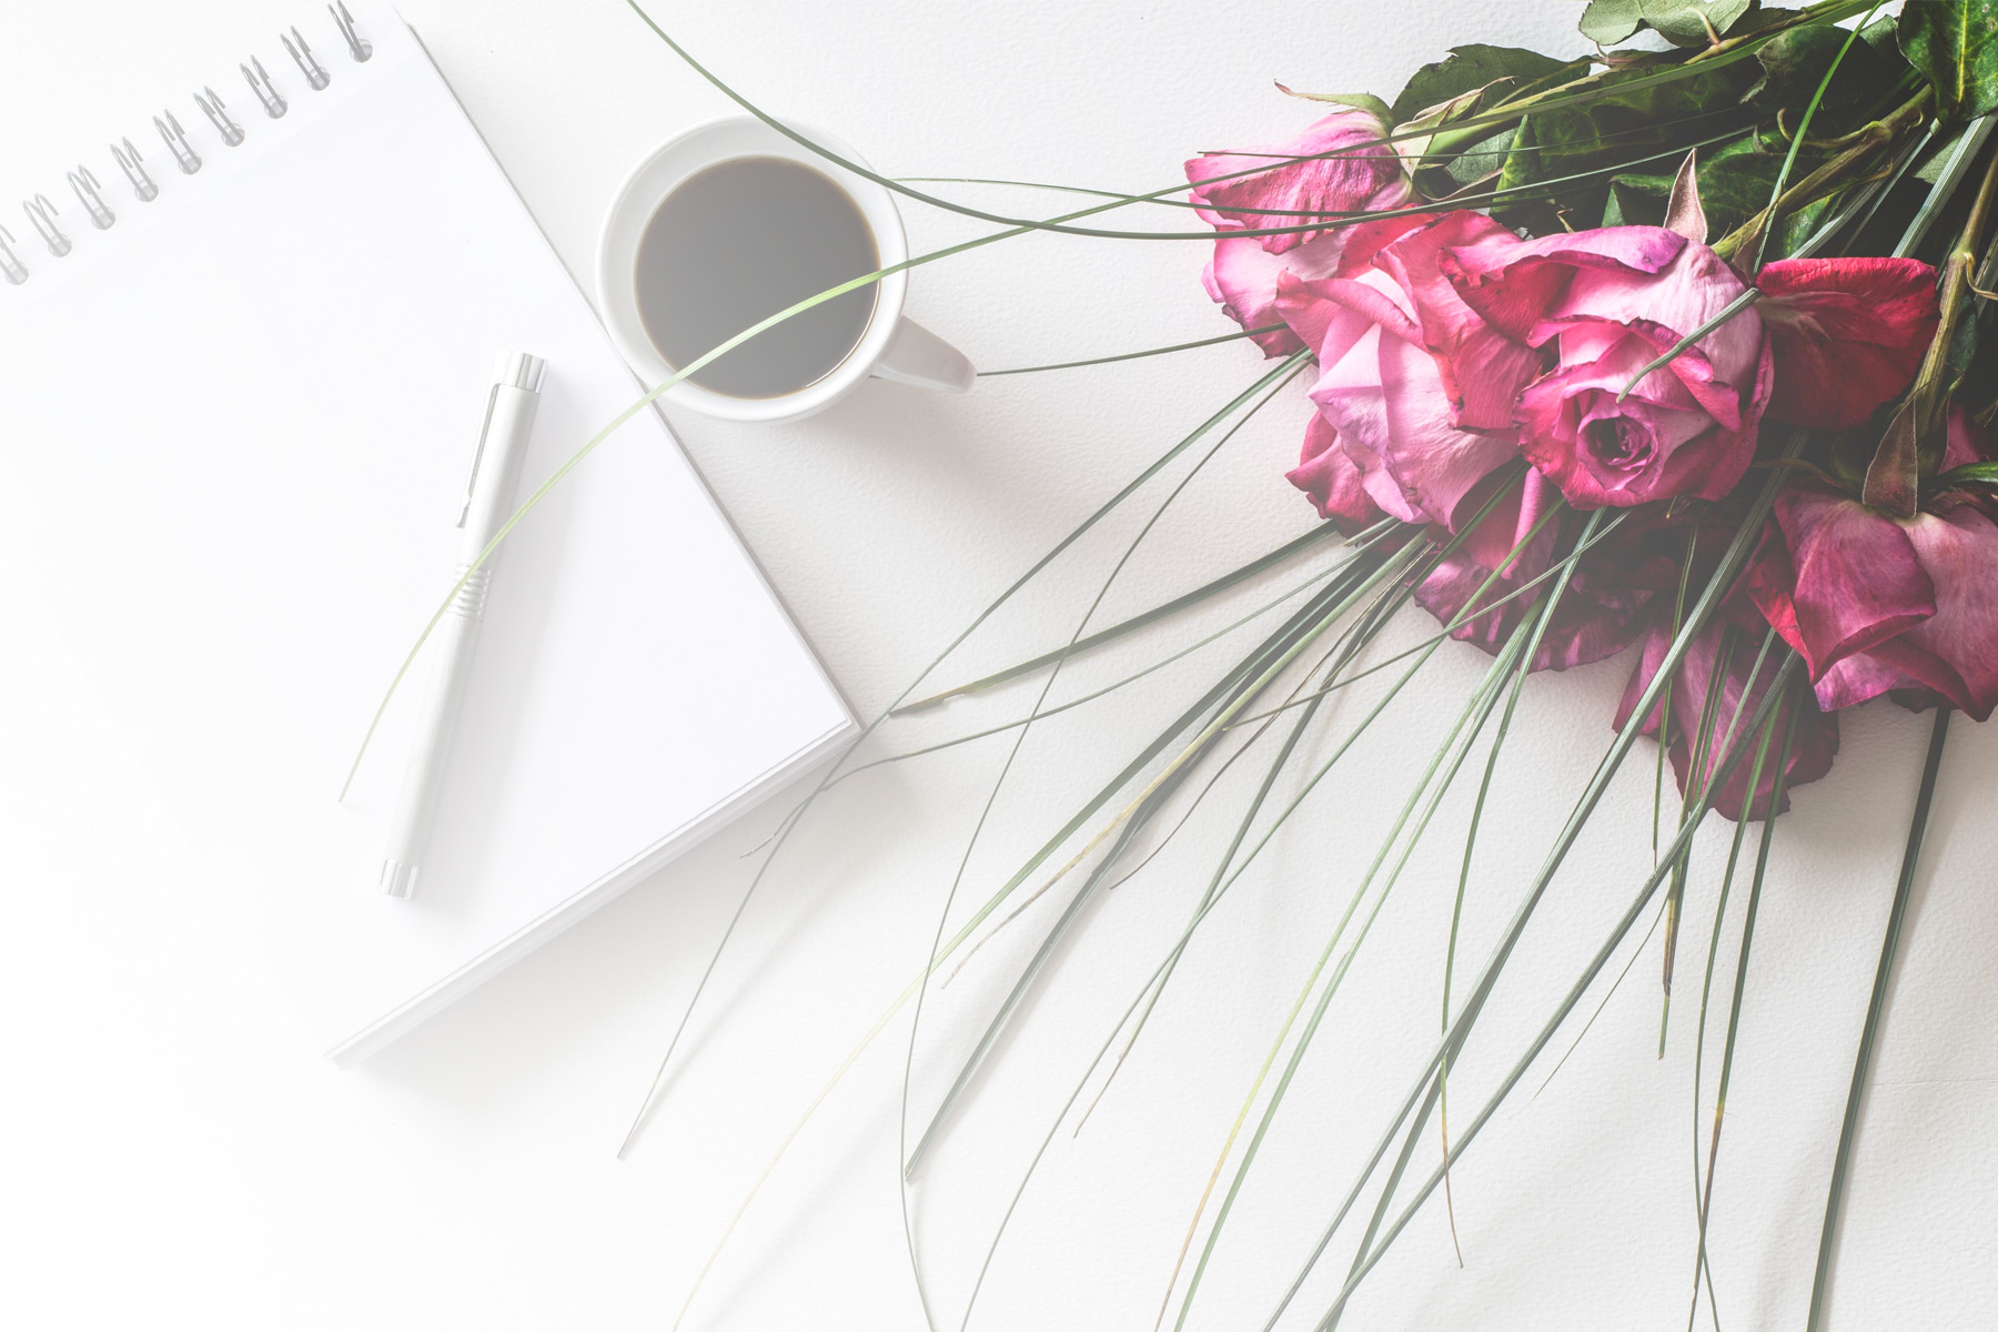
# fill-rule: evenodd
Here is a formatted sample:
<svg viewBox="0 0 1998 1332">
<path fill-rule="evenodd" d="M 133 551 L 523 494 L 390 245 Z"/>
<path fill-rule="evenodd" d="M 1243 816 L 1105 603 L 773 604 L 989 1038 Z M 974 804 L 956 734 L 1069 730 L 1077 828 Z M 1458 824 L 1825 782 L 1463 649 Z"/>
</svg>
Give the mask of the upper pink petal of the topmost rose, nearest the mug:
<svg viewBox="0 0 1998 1332">
<path fill-rule="evenodd" d="M 1209 226 L 1221 232 L 1309 226 L 1311 214 L 1385 212 L 1415 198 L 1401 156 L 1387 142 L 1379 118 L 1341 108 L 1311 124 L 1287 144 L 1207 152 L 1187 162 L 1189 198 Z M 1257 172 L 1255 168 L 1269 170 Z M 1253 172 L 1243 176 L 1241 172 Z M 1233 180 L 1223 180 L 1233 176 Z M 1323 232 L 1259 238 L 1271 254 L 1285 254 Z"/>
</svg>

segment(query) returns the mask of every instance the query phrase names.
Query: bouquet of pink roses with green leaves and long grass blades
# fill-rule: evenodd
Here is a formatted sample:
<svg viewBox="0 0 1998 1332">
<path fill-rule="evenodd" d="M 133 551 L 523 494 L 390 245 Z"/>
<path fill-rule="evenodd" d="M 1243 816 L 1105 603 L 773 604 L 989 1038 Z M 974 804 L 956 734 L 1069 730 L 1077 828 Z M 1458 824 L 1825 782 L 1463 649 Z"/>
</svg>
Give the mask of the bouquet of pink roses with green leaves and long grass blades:
<svg viewBox="0 0 1998 1332">
<path fill-rule="evenodd" d="M 793 134 L 639 16 L 703 78 Z M 1712 1298 L 1708 1204 L 1736 1054 L 1732 1018 L 1740 1014 L 1772 829 L 1790 793 L 1832 769 L 1840 713 L 1886 699 L 1928 711 L 1934 721 L 1826 1190 L 1812 1328 L 1824 1312 L 1860 1092 L 1948 719 L 1962 711 L 1984 721 L 1998 705 L 1998 445 L 1990 431 L 1998 357 L 1988 339 L 1980 343 L 1998 252 L 1998 152 L 1990 146 L 1998 0 L 1820 0 L 1804 8 L 1592 0 L 1580 32 L 1588 50 L 1574 58 L 1459 46 L 1417 70 L 1393 102 L 1371 94 L 1307 96 L 1319 104 L 1315 118 L 1289 140 L 1199 154 L 1185 164 L 1185 182 L 1151 194 L 1085 190 L 1097 202 L 1053 218 L 971 208 L 925 192 L 923 182 L 889 180 L 833 158 L 909 200 L 997 228 L 897 268 L 1029 232 L 1211 246 L 1205 288 L 1239 332 L 1129 355 L 1241 337 L 1275 361 L 1055 545 L 999 603 L 1027 589 L 1175 459 L 1199 459 L 1197 471 L 1279 393 L 1303 391 L 1313 405 L 1289 483 L 1323 517 L 1315 531 L 1143 615 L 1107 627 L 1085 617 L 1067 643 L 1039 657 L 919 697 L 921 681 L 985 623 L 993 603 L 857 741 L 945 699 L 1041 677 L 1025 719 L 945 741 L 1011 735 L 993 785 L 997 797 L 1027 731 L 1061 711 L 1043 705 L 1067 663 L 1281 565 L 1313 561 L 1309 579 L 1233 625 L 1281 611 L 1275 627 L 1233 657 L 959 929 L 947 931 L 959 871 L 935 945 L 861 1048 L 903 1004 L 913 1004 L 919 1022 L 939 971 L 969 953 L 981 929 L 1017 919 L 1025 903 L 1057 885 L 1069 897 L 979 1038 L 947 1052 L 955 1078 L 927 1128 L 909 1134 L 907 1172 L 921 1168 L 1089 903 L 1135 873 L 1133 865 L 1143 867 L 1147 847 L 1169 841 L 1187 817 L 1167 815 L 1199 805 L 1219 773 L 1245 755 L 1267 761 L 1235 811 L 1235 835 L 1193 917 L 1075 1084 L 1049 1140 L 1083 1106 L 1085 1088 L 1099 1074 L 1115 1074 L 1201 923 L 1387 701 L 1451 641 L 1491 657 L 1399 821 L 1383 829 L 1379 857 L 1305 977 L 1289 1018 L 1273 1032 L 1261 1072 L 1219 1144 L 1171 1268 L 1161 1322 L 1173 1316 L 1173 1326 L 1183 1326 L 1195 1306 L 1233 1200 L 1387 889 L 1475 745 L 1491 737 L 1465 837 L 1459 915 L 1479 811 L 1520 689 L 1534 673 L 1618 655 L 1628 657 L 1630 677 L 1620 707 L 1602 717 L 1608 743 L 1594 775 L 1546 861 L 1526 877 L 1489 959 L 1467 969 L 1463 983 L 1447 971 L 1435 1048 L 1359 1178 L 1323 1232 L 1311 1236 L 1297 1280 L 1273 1292 L 1263 1326 L 1301 1316 L 1299 1326 L 1339 1322 L 1359 1284 L 1411 1216 L 1447 1190 L 1453 1162 L 1660 899 L 1670 997 L 1692 839 L 1706 815 L 1718 813 L 1734 825 L 1700 997 L 1702 1048 L 1712 955 L 1736 879 L 1746 883 L 1746 905 L 1692 1254 L 1694 1312 L 1702 1280 Z M 1179 218 L 1191 212 L 1201 228 L 1101 226 L 1103 214 L 1135 208 Z M 773 314 L 649 397 L 771 324 L 879 276 Z M 1127 355 L 1035 369 L 1117 359 Z M 1217 443 L 1207 453 L 1193 453 L 1209 439 Z M 1385 629 L 1411 603 L 1439 623 L 1437 631 L 1383 657 Z M 1379 705 L 1343 731 L 1325 733 L 1331 713 L 1323 705 L 1335 691 L 1403 663 Z M 1309 739 L 1325 741 L 1331 757 L 1307 765 Z M 1451 1066 L 1610 779 L 1646 739 L 1658 763 L 1652 871 L 1634 885 L 1628 909 L 1510 1072 L 1469 1120 L 1451 1120 Z M 913 753 L 843 761 L 827 773 L 771 839 L 751 893 L 821 791 Z M 1670 837 L 1660 837 L 1668 823 L 1666 765 L 1678 803 Z M 1744 855 L 1752 823 L 1760 823 L 1760 845 Z M 1363 913 L 1369 893 L 1373 907 Z M 1001 909 L 1009 915 L 995 919 Z M 1449 967 L 1457 967 L 1455 917 Z M 665 1060 L 685 1028 L 681 1018 Z M 655 1078 L 653 1092 L 659 1084 Z M 1427 1174 L 1411 1174 L 1417 1144 L 1433 1126 L 1443 1130 L 1441 1158 Z M 1029 1186 L 1033 1166 L 1019 1190 Z M 1371 1202 L 1361 1206 L 1361 1198 Z M 1351 1264 L 1335 1294 L 1319 1308 L 1295 1308 L 1333 1242 L 1349 1234 Z M 993 1248 L 1001 1236 L 1003 1224 Z M 977 1288 L 965 1322 L 975 1298 Z"/>
</svg>

